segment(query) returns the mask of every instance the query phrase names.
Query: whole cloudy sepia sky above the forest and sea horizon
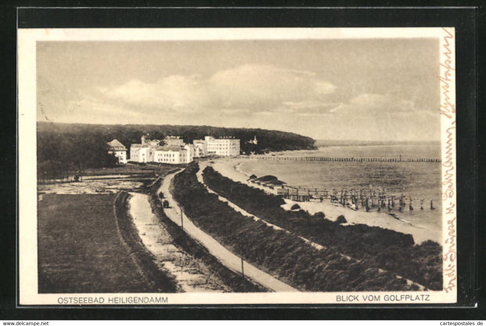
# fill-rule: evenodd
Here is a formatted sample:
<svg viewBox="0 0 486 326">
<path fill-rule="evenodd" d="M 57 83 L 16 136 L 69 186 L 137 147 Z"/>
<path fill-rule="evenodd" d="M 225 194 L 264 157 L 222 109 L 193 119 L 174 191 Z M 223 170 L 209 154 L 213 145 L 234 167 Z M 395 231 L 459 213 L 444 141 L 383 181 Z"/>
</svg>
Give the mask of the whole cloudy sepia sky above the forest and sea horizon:
<svg viewBox="0 0 486 326">
<path fill-rule="evenodd" d="M 439 40 L 38 41 L 37 121 L 439 135 Z"/>
</svg>

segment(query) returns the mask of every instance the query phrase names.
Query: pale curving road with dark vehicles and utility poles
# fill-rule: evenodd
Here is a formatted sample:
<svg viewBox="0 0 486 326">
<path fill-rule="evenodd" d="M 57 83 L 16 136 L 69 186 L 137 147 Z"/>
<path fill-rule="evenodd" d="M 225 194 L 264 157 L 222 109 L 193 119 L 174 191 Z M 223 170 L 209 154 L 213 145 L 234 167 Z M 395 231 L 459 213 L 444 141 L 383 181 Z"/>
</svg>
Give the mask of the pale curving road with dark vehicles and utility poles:
<svg viewBox="0 0 486 326">
<path fill-rule="evenodd" d="M 172 197 L 172 193 L 170 191 L 172 180 L 174 176 L 179 173 L 174 172 L 172 174 L 167 175 L 162 184 L 159 188 L 159 192 L 162 192 L 165 199 L 169 202 L 171 208 L 164 209 L 164 213 L 169 217 L 174 223 L 177 225 L 181 225 L 181 214 L 184 224 L 184 231 L 191 235 L 193 238 L 197 239 L 203 246 L 205 246 L 209 253 L 215 256 L 218 260 L 220 260 L 223 265 L 227 268 L 235 271 L 241 272 L 242 268 L 242 260 L 241 257 L 233 254 L 229 250 L 227 250 L 223 245 L 221 245 L 218 241 L 216 241 L 213 237 L 203 232 L 201 229 L 196 227 L 191 220 L 182 212 L 181 208 L 179 207 L 178 203 Z M 245 276 L 253 279 L 255 282 L 261 284 L 263 287 L 273 290 L 276 292 L 291 292 L 291 291 L 298 291 L 293 287 L 279 281 L 272 275 L 261 271 L 260 269 L 256 268 L 255 266 L 247 263 L 246 261 L 243 262 L 243 270 Z"/>
</svg>

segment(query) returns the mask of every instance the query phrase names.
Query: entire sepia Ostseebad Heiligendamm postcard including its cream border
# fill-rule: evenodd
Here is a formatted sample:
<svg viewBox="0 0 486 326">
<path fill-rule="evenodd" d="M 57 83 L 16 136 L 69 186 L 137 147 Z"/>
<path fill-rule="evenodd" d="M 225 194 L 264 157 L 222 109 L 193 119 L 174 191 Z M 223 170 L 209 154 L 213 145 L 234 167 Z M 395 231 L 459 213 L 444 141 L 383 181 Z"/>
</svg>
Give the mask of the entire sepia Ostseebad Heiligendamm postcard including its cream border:
<svg viewBox="0 0 486 326">
<path fill-rule="evenodd" d="M 456 302 L 454 47 L 19 29 L 19 304 Z"/>
</svg>

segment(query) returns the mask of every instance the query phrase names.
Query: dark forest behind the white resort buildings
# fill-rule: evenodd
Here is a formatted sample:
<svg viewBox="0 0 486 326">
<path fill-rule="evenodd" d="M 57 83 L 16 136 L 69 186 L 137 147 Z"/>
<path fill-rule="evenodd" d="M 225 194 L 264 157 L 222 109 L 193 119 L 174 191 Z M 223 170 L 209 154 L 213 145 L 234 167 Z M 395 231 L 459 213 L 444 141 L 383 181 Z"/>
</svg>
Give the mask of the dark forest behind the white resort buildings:
<svg viewBox="0 0 486 326">
<path fill-rule="evenodd" d="M 242 154 L 281 150 L 313 149 L 314 140 L 295 133 L 265 129 L 223 128 L 171 125 L 89 125 L 37 123 L 37 167 L 40 179 L 62 178 L 73 171 L 92 167 L 109 167 L 117 160 L 107 154 L 106 143 L 118 139 L 127 148 L 139 144 L 142 135 L 163 139 L 181 136 L 186 143 L 204 136 L 233 136 L 240 139 Z M 257 138 L 258 144 L 248 143 Z"/>
</svg>

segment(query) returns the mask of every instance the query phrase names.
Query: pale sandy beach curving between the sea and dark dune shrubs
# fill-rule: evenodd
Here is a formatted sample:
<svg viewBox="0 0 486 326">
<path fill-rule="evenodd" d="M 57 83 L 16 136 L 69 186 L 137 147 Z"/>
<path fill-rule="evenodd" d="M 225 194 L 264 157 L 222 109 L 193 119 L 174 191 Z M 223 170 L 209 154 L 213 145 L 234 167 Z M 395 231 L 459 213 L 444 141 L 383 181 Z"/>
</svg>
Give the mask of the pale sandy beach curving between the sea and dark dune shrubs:
<svg viewBox="0 0 486 326">
<path fill-rule="evenodd" d="M 274 193 L 273 189 L 248 181 L 249 176 L 238 169 L 238 165 L 245 160 L 248 160 L 248 158 L 219 158 L 210 161 L 208 165 L 211 165 L 216 171 L 233 181 L 242 182 L 248 186 L 262 189 L 267 193 Z M 347 224 L 366 224 L 410 234 L 414 237 L 414 241 L 417 244 L 427 240 L 433 240 L 438 243 L 441 242 L 441 234 L 439 230 L 431 230 L 430 228 L 414 225 L 411 222 L 401 220 L 386 213 L 365 212 L 364 210 L 355 211 L 339 204 L 330 203 L 329 201 L 296 202 L 290 199 L 285 199 L 285 202 L 286 203 L 282 205 L 282 208 L 286 210 L 290 210 L 293 204 L 298 203 L 301 209 L 308 211 L 310 214 L 323 212 L 326 215 L 326 218 L 330 220 L 335 220 L 338 216 L 344 215 Z"/>
</svg>

